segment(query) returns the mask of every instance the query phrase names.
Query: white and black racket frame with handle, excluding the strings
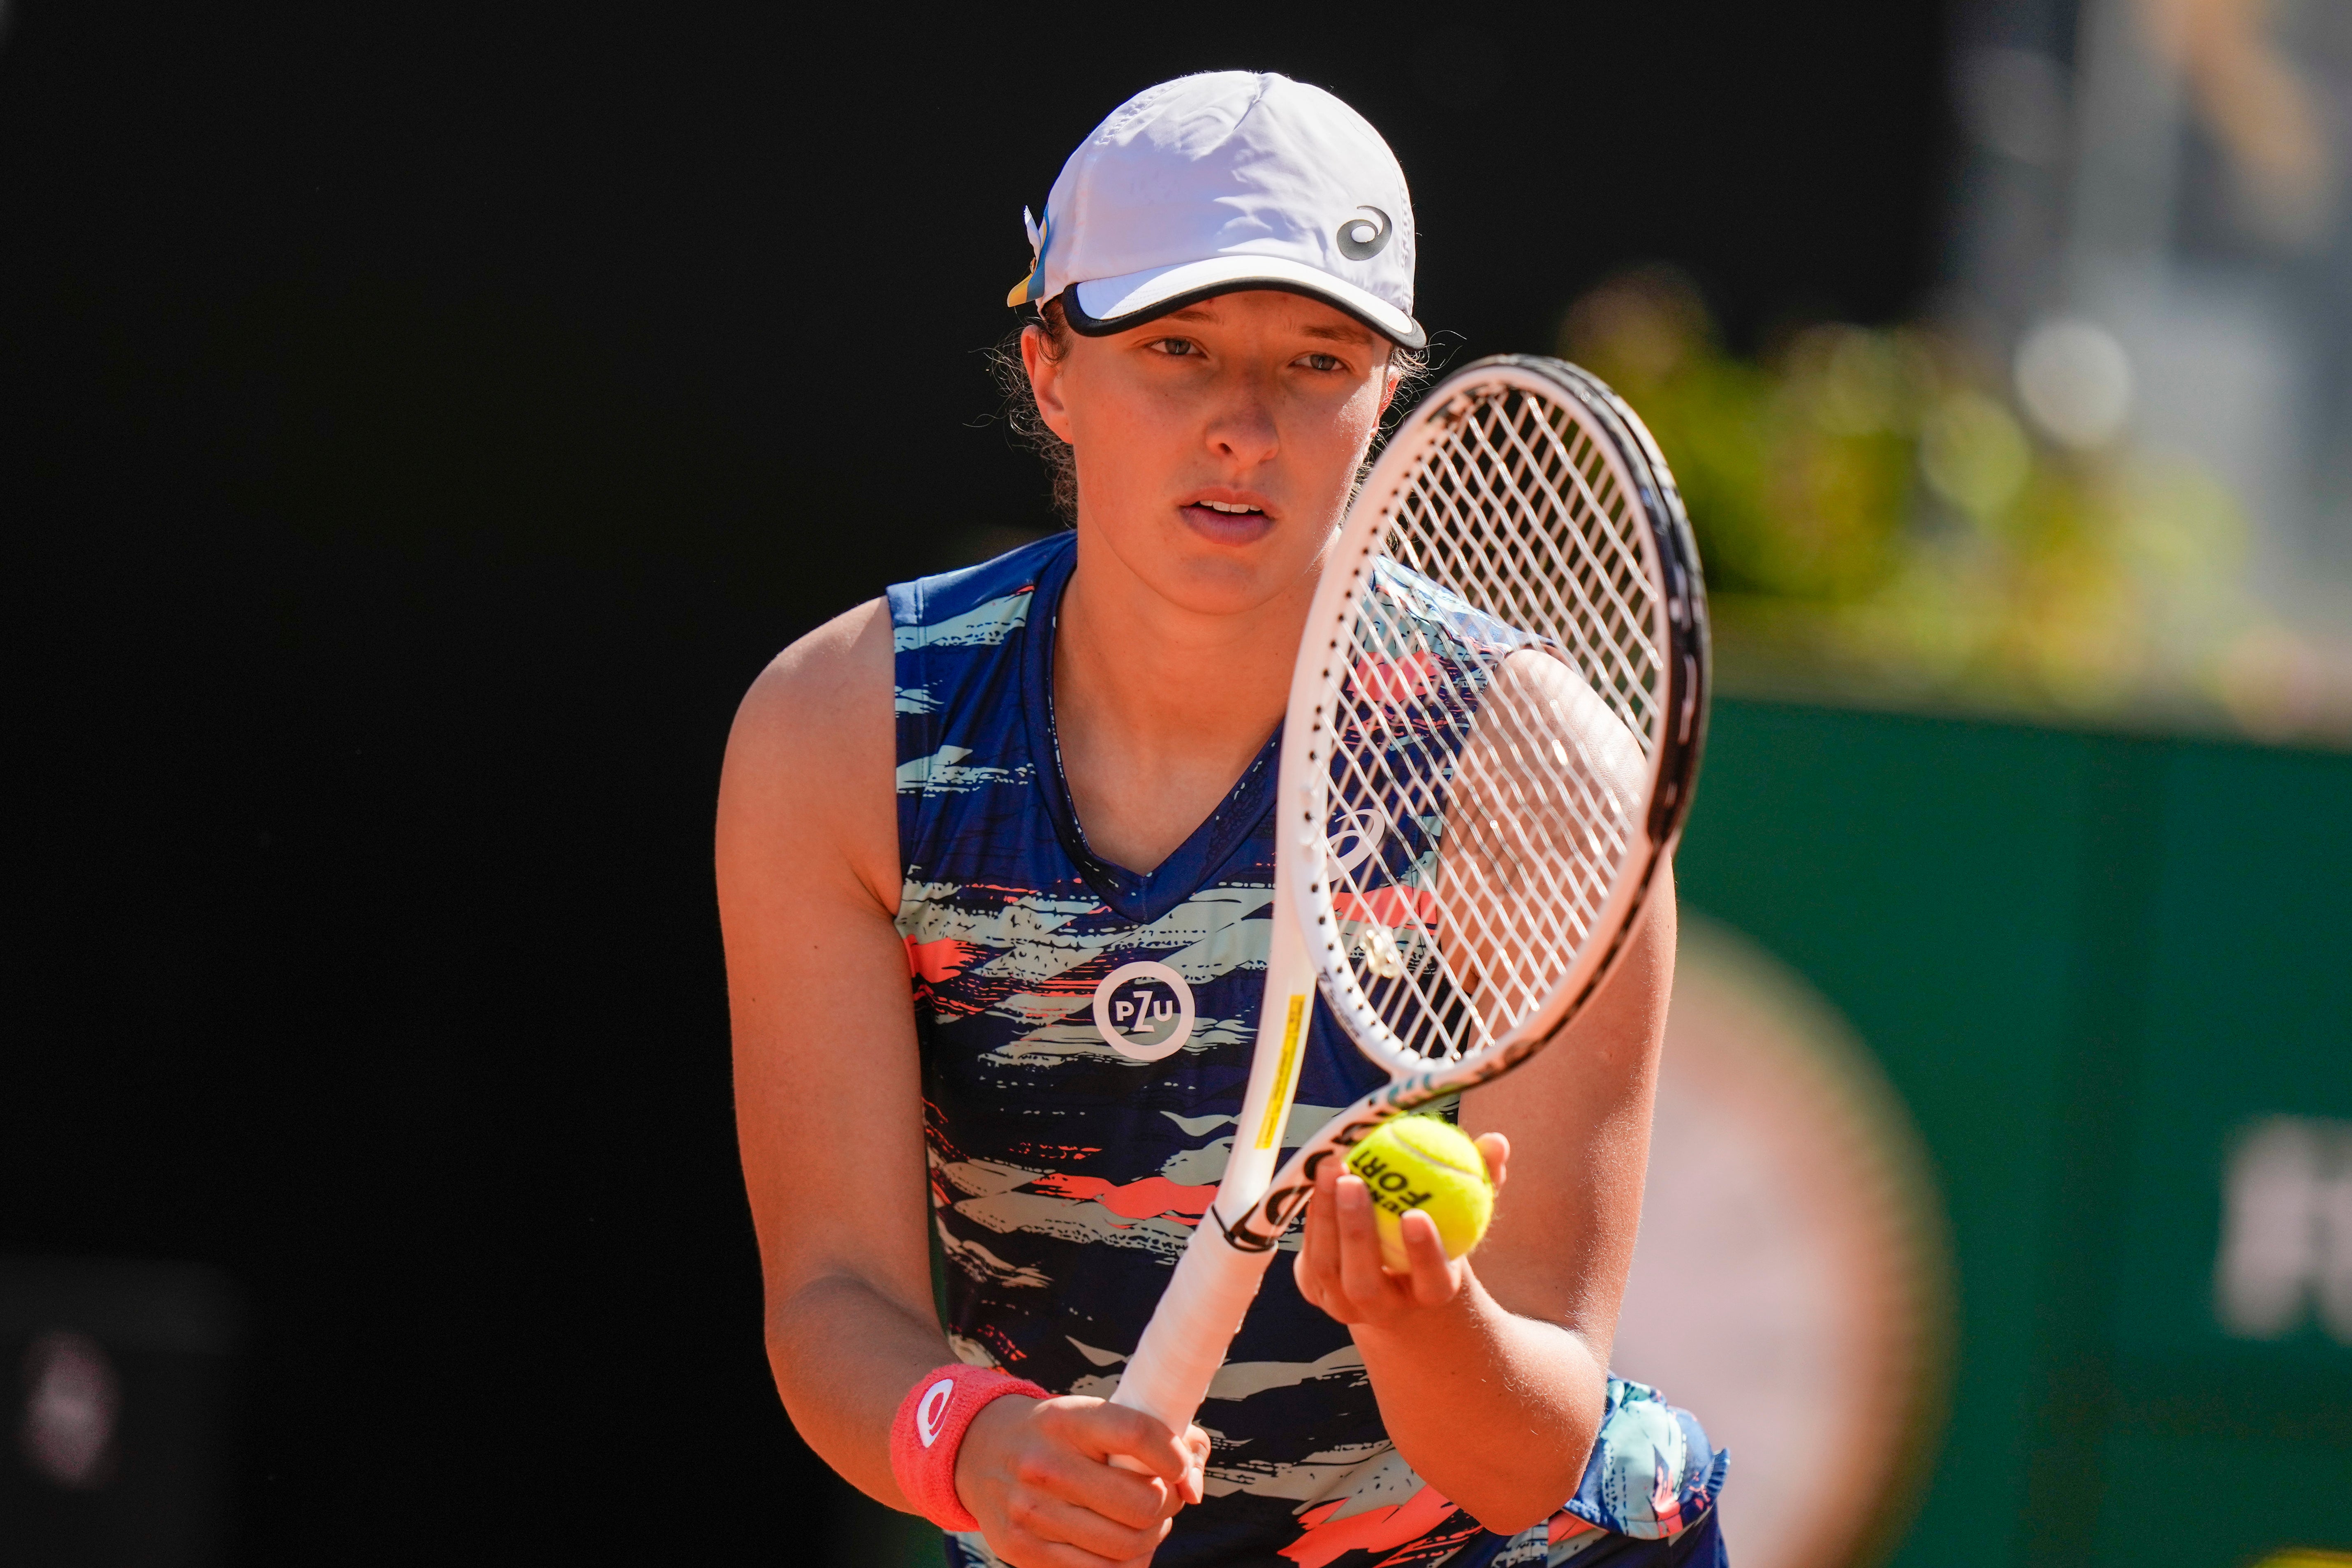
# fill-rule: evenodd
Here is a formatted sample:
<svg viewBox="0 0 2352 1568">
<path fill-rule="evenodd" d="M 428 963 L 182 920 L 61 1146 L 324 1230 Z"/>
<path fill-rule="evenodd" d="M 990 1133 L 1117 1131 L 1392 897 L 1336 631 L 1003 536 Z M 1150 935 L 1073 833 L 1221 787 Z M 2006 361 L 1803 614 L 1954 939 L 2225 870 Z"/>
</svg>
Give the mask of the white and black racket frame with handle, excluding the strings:
<svg viewBox="0 0 2352 1568">
<path fill-rule="evenodd" d="M 1632 531 L 1663 609 L 1651 628 L 1658 637 L 1661 682 L 1646 757 L 1649 811 L 1637 825 L 1642 844 L 1630 856 L 1637 865 L 1630 877 L 1618 877 L 1599 912 L 1599 922 L 1613 919 L 1613 926 L 1602 926 L 1609 929 L 1609 940 L 1578 952 L 1552 994 L 1486 1051 L 1414 1070 L 1402 1060 L 1409 1056 L 1402 1046 L 1383 1041 L 1395 1037 L 1364 999 L 1336 933 L 1324 842 L 1329 752 L 1322 748 L 1334 733 L 1327 715 L 1338 715 L 1348 679 L 1343 649 L 1357 592 L 1388 538 L 1395 508 L 1416 480 L 1423 454 L 1498 388 L 1573 402 L 1597 433 L 1595 444 L 1625 505 L 1642 512 Z M 1145 1410 L 1183 1432 L 1256 1298 L 1265 1262 L 1312 1197 L 1324 1161 L 1345 1157 L 1345 1150 L 1392 1117 L 1510 1072 L 1566 1030 L 1616 966 L 1658 867 L 1672 853 L 1705 745 L 1705 719 L 1708 614 L 1698 550 L 1675 480 L 1642 421 L 1597 376 L 1562 360 L 1496 355 L 1446 376 L 1388 442 L 1324 552 L 1282 731 L 1272 940 L 1249 1088 L 1216 1199 L 1178 1258 L 1112 1403 Z M 1317 990 L 1357 1046 L 1388 1067 L 1390 1081 L 1331 1117 L 1275 1171 Z M 1374 1044 L 1367 1046 L 1367 1039 Z"/>
</svg>

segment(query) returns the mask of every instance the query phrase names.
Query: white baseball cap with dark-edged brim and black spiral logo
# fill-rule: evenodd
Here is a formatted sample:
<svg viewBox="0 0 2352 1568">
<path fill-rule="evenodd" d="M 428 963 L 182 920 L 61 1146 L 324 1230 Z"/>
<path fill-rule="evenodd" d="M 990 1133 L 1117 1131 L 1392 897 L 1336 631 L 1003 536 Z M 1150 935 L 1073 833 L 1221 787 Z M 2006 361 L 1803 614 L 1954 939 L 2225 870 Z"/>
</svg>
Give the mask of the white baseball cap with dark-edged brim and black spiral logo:
<svg viewBox="0 0 2352 1568">
<path fill-rule="evenodd" d="M 1160 82 L 1120 103 L 1061 167 L 1035 259 L 1007 306 L 1061 299 L 1087 336 L 1209 294 L 1289 289 L 1421 348 L 1414 200 L 1364 115 L 1256 71 Z"/>
</svg>

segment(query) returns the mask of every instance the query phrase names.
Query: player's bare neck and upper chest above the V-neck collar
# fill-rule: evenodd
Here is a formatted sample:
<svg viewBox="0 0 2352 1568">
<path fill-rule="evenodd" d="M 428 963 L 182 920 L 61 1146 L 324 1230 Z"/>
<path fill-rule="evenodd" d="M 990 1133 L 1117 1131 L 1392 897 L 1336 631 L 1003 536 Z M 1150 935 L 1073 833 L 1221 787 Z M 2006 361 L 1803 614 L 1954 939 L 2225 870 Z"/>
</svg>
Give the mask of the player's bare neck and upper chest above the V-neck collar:
<svg viewBox="0 0 2352 1568">
<path fill-rule="evenodd" d="M 1275 733 L 1315 576 L 1237 614 L 1169 602 L 1084 531 L 1061 599 L 1054 717 L 1094 853 L 1152 870 Z"/>
</svg>

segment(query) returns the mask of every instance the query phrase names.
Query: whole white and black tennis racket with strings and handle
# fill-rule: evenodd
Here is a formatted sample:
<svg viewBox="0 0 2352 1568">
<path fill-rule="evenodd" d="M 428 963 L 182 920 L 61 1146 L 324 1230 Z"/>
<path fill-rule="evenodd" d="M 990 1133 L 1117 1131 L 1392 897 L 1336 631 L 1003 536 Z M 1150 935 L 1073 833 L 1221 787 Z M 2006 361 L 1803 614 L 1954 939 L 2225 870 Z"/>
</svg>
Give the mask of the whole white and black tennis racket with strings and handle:
<svg viewBox="0 0 2352 1568">
<path fill-rule="evenodd" d="M 1576 1016 L 1682 830 L 1705 712 L 1698 552 L 1632 409 L 1519 355 L 1430 390 L 1324 557 L 1232 1157 L 1112 1403 L 1183 1432 L 1317 1168 Z M 1317 987 L 1390 1081 L 1277 1173 Z"/>
</svg>

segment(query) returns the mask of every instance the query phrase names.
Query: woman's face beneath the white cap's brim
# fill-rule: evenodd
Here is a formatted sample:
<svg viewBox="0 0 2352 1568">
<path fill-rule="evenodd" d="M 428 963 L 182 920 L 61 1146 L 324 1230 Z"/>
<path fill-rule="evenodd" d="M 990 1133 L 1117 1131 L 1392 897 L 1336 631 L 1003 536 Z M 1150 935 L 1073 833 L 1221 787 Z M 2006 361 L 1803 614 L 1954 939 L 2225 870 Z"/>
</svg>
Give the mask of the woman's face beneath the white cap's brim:
<svg viewBox="0 0 2352 1568">
<path fill-rule="evenodd" d="M 1077 451 L 1077 522 L 1150 590 L 1240 614 L 1308 583 L 1395 390 L 1388 339 L 1244 289 L 1061 360 L 1021 336 L 1037 411 Z"/>
</svg>

